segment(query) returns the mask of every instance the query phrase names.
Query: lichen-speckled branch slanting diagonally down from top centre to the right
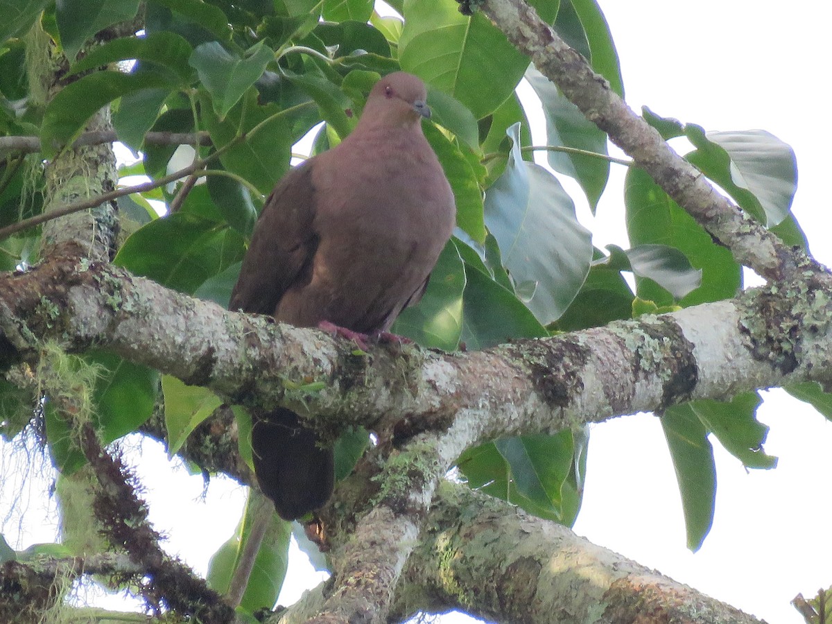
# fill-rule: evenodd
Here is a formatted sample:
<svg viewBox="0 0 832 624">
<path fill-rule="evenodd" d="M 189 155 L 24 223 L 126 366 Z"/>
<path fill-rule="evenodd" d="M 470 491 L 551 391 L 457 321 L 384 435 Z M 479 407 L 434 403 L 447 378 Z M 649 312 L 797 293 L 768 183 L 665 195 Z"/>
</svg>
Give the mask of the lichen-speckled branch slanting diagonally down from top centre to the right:
<svg viewBox="0 0 832 624">
<path fill-rule="evenodd" d="M 472 2 L 472 4 L 474 4 Z M 659 133 L 631 111 L 592 71 L 587 60 L 558 37 L 523 0 L 483 0 L 483 12 L 508 40 L 532 59 L 587 119 L 607 132 L 671 196 L 726 245 L 741 264 L 768 280 L 794 280 L 807 259 L 721 196 Z"/>
</svg>

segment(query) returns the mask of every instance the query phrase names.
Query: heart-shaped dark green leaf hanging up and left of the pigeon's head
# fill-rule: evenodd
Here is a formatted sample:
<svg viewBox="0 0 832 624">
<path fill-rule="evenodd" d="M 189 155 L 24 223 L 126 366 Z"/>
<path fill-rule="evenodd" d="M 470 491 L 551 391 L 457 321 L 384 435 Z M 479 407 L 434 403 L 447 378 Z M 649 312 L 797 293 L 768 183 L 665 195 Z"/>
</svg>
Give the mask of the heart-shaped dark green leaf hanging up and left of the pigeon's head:
<svg viewBox="0 0 832 624">
<path fill-rule="evenodd" d="M 274 57 L 275 52 L 264 42 L 251 47 L 245 57 L 231 54 L 220 42 L 207 42 L 196 47 L 190 62 L 208 89 L 214 111 L 222 121 Z"/>
</svg>

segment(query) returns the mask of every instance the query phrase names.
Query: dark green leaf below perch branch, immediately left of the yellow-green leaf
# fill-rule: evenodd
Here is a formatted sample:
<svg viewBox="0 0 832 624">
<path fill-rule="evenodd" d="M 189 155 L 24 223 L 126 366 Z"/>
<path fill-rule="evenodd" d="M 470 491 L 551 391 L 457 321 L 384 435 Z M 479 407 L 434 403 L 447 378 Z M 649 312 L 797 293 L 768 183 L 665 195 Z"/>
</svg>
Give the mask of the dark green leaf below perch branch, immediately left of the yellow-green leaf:
<svg viewBox="0 0 832 624">
<path fill-rule="evenodd" d="M 93 400 L 102 443 L 136 431 L 153 414 L 158 371 L 106 351 L 88 351 L 83 358 L 100 367 Z"/>
</svg>

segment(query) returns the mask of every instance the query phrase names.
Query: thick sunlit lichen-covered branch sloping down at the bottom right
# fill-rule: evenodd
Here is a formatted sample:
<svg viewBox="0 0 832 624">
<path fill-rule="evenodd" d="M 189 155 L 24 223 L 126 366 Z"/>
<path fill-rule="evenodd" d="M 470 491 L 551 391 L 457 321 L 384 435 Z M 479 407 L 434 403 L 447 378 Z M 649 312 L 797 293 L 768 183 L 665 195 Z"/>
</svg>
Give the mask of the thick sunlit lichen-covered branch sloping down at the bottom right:
<svg viewBox="0 0 832 624">
<path fill-rule="evenodd" d="M 444 483 L 390 619 L 450 609 L 488 622 L 527 624 L 760 622 L 567 527 Z"/>
</svg>

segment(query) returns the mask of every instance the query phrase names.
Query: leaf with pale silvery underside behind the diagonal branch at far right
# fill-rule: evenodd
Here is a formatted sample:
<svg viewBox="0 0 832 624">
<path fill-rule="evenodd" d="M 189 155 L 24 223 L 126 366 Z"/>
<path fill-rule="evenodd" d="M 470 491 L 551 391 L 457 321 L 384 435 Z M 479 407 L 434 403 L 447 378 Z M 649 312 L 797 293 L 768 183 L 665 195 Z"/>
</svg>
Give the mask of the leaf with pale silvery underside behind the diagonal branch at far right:
<svg viewBox="0 0 832 624">
<path fill-rule="evenodd" d="M 686 156 L 766 226 L 789 215 L 797 191 L 797 161 L 791 147 L 765 130 L 705 132 L 687 124 L 696 146 Z"/>
</svg>

